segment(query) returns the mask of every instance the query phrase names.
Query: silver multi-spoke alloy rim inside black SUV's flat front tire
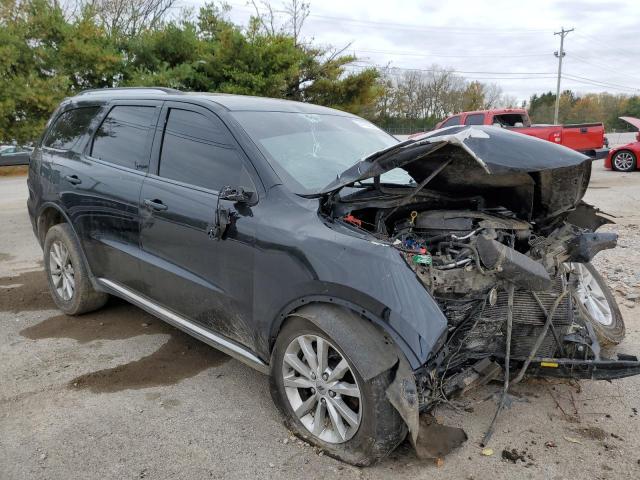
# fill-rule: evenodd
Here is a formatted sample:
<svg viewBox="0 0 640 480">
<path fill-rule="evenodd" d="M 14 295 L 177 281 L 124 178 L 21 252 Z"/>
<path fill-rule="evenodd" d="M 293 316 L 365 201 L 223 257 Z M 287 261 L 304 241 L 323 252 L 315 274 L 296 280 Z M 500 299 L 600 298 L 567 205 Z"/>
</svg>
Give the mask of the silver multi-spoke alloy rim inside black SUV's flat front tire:
<svg viewBox="0 0 640 480">
<path fill-rule="evenodd" d="M 287 399 L 304 427 L 327 443 L 353 437 L 362 418 L 361 390 L 336 347 L 318 335 L 300 335 L 282 363 Z"/>
</svg>

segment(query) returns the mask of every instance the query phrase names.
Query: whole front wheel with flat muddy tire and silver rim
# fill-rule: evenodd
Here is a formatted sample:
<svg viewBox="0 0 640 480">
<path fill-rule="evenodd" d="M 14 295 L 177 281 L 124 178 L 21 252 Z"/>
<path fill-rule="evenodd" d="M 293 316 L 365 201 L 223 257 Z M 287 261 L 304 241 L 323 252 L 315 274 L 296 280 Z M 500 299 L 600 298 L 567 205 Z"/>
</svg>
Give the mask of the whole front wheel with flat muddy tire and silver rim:
<svg viewBox="0 0 640 480">
<path fill-rule="evenodd" d="M 328 345 L 325 354 L 318 354 L 321 345 Z M 393 372 L 365 382 L 349 353 L 315 324 L 292 318 L 271 356 L 271 395 L 285 425 L 299 438 L 344 462 L 370 465 L 392 452 L 406 437 L 407 428 L 385 395 Z M 298 371 L 305 369 L 306 375 Z M 358 397 L 353 396 L 356 393 Z M 316 423 L 316 418 L 321 421 Z"/>
</svg>

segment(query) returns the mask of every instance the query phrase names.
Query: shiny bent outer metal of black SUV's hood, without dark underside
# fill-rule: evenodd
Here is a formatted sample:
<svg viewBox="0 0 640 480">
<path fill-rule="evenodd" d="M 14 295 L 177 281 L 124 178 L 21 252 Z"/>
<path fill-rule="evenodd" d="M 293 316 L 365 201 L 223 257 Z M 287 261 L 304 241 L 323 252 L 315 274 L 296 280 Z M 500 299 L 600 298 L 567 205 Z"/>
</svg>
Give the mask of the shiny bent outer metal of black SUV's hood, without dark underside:
<svg viewBox="0 0 640 480">
<path fill-rule="evenodd" d="M 582 164 L 589 157 L 546 140 L 504 128 L 477 125 L 447 127 L 372 153 L 342 172 L 318 193 L 336 191 L 357 181 L 404 168 L 420 183 L 433 168 L 423 169 L 428 157 L 452 146 L 471 156 L 488 174 L 539 172 Z M 421 161 L 423 160 L 423 161 Z"/>
</svg>

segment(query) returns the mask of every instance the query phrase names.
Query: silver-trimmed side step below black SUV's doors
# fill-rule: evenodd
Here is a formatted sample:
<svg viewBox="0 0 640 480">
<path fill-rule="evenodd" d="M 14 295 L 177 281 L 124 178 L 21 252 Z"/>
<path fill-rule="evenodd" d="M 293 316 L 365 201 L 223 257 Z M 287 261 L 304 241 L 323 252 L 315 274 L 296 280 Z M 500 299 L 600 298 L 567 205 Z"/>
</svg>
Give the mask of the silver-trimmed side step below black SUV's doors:
<svg viewBox="0 0 640 480">
<path fill-rule="evenodd" d="M 269 373 L 269 365 L 256 357 L 253 353 L 247 350 L 245 347 L 238 345 L 237 343 L 229 340 L 226 337 L 217 335 L 209 330 L 201 327 L 197 323 L 188 320 L 167 308 L 152 302 L 148 298 L 139 295 L 138 293 L 129 290 L 128 288 L 106 278 L 98 278 L 98 283 L 102 285 L 109 293 L 112 293 L 118 297 L 133 303 L 134 305 L 146 310 L 152 315 L 164 320 L 170 325 L 188 333 L 192 337 L 197 338 L 204 343 L 211 345 L 214 348 L 226 353 L 227 355 L 241 361 L 242 363 L 255 368 L 261 373 Z"/>
</svg>

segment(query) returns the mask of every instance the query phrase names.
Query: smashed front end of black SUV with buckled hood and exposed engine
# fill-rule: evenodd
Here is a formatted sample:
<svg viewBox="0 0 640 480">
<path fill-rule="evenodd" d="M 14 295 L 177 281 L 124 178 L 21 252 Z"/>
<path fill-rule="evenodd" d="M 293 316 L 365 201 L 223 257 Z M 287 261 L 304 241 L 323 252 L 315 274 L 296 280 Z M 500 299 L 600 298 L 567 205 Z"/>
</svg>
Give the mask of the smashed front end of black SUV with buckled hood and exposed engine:
<svg viewBox="0 0 640 480">
<path fill-rule="evenodd" d="M 394 168 L 415 185 L 381 181 Z M 378 152 L 322 192 L 322 212 L 397 249 L 447 318 L 444 342 L 413 372 L 421 411 L 492 379 L 506 394 L 525 374 L 640 373 L 635 357 L 601 355 L 578 305 L 579 266 L 617 241 L 582 202 L 590 173 L 564 147 L 455 127 Z"/>
</svg>

